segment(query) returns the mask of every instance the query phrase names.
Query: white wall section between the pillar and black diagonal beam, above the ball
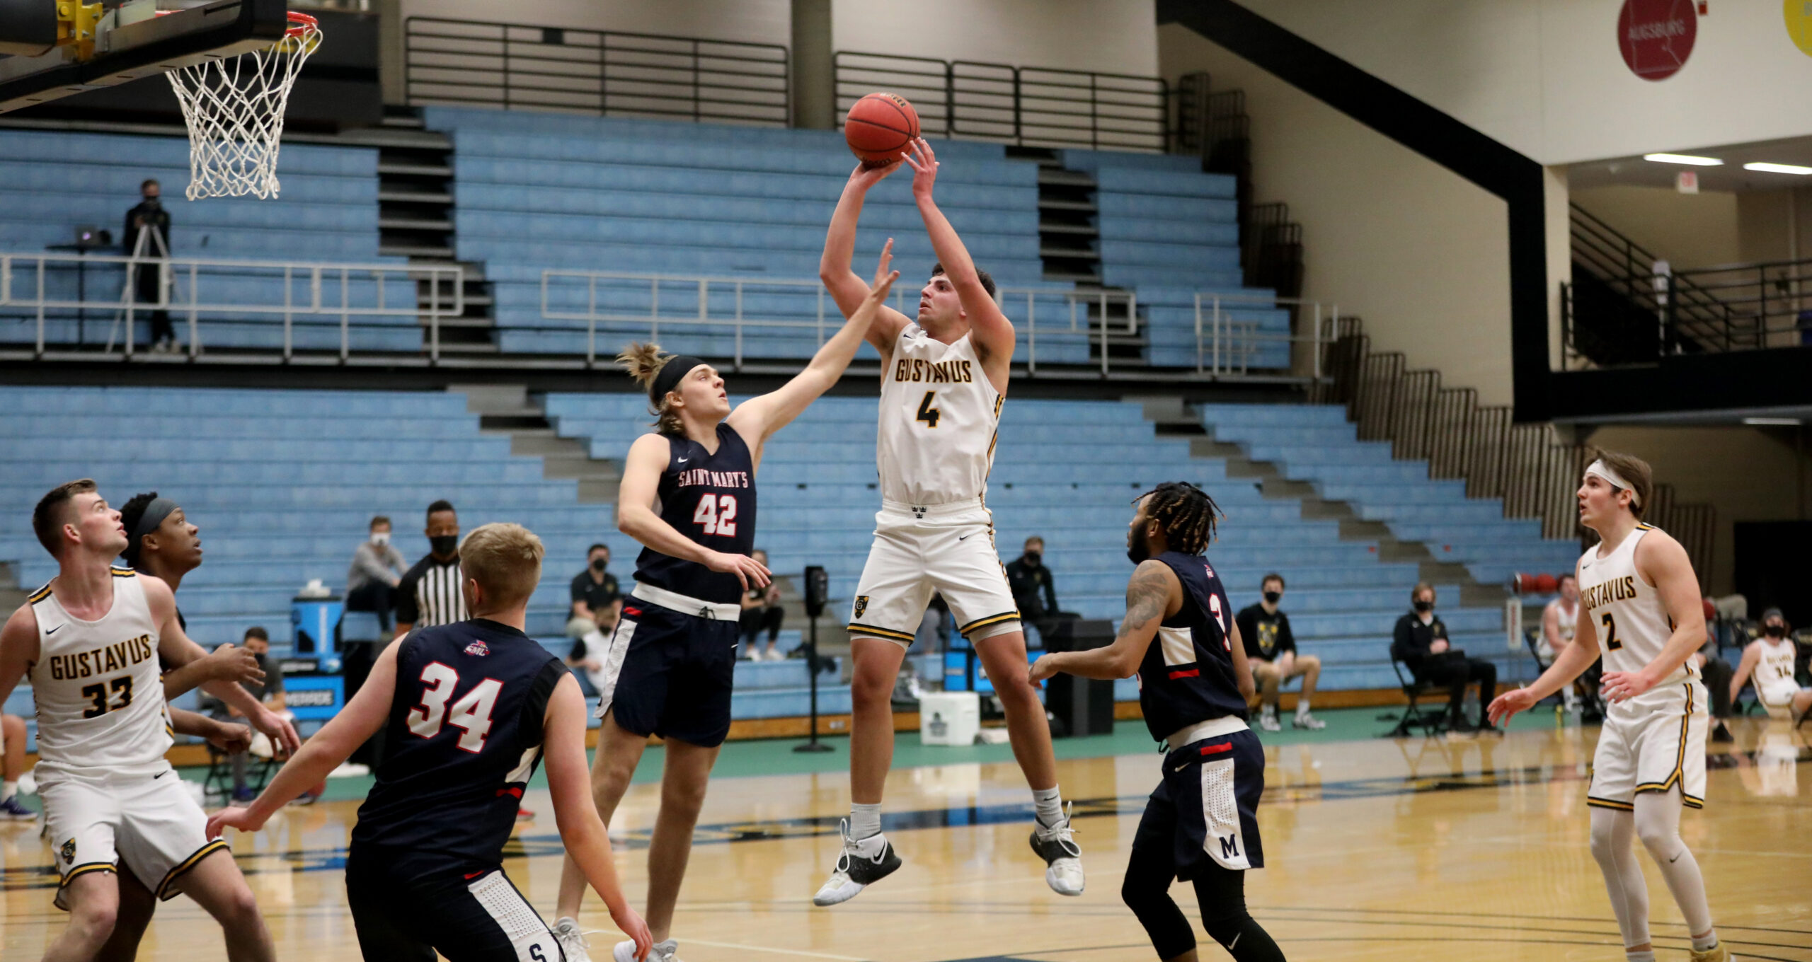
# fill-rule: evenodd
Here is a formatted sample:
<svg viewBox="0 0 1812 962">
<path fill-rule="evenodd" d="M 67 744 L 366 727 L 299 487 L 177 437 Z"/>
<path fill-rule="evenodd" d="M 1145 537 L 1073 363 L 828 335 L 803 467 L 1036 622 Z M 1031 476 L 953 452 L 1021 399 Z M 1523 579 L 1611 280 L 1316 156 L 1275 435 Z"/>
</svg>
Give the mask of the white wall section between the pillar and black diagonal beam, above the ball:
<svg viewBox="0 0 1812 962">
<path fill-rule="evenodd" d="M 832 0 L 832 49 L 1158 76 L 1152 0 Z"/>
</svg>

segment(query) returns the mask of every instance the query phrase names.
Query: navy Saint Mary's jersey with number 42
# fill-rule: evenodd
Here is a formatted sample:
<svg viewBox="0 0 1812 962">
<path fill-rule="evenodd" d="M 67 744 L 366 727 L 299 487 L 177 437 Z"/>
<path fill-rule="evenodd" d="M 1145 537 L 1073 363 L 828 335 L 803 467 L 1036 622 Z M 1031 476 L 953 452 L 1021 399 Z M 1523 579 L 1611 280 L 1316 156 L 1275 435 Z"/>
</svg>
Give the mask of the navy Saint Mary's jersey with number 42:
<svg viewBox="0 0 1812 962">
<path fill-rule="evenodd" d="M 756 458 L 743 435 L 718 424 L 718 451 L 683 437 L 669 437 L 667 469 L 658 487 L 661 520 L 687 538 L 725 554 L 748 554 L 756 545 Z M 636 580 L 658 589 L 734 605 L 743 592 L 736 574 L 710 571 L 643 547 Z"/>
</svg>

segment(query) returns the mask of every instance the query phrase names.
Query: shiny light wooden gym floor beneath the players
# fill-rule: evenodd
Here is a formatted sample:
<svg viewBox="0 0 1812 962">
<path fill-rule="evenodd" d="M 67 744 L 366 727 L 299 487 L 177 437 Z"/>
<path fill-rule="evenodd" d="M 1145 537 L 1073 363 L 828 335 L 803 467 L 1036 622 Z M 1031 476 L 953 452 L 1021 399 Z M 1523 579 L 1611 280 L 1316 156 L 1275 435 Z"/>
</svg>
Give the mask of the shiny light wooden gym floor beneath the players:
<svg viewBox="0 0 1812 962">
<path fill-rule="evenodd" d="M 1537 712 L 1502 739 L 1388 741 L 1364 737 L 1383 728 L 1373 712 L 1326 712 L 1325 734 L 1263 736 L 1270 766 L 1259 826 L 1268 864 L 1248 875 L 1247 899 L 1285 953 L 1292 960 L 1622 960 L 1586 846 L 1584 777 L 1596 730 L 1557 730 Z M 1759 719 L 1732 726 L 1738 745 L 1714 746 L 1707 806 L 1683 813 L 1682 833 L 1738 957 L 1812 962 L 1812 779 L 1801 765 L 1812 754 L 1805 734 Z M 687 962 L 1152 958 L 1118 891 L 1127 844 L 1158 779 L 1160 755 L 1140 723 L 1060 743 L 1064 795 L 1076 801 L 1089 870 L 1080 899 L 1046 888 L 1042 862 L 1026 844 L 1029 799 L 1011 761 L 982 748 L 919 748 L 917 736 L 902 734 L 888 783 L 888 832 L 906 864 L 852 902 L 812 908 L 848 806 L 848 745 L 832 745 L 837 750 L 824 755 L 790 755 L 785 743 L 727 748 L 674 922 Z M 942 759 L 959 761 L 935 765 Z M 649 752 L 641 784 L 614 824 L 620 871 L 638 906 L 658 765 L 660 752 Z M 359 795 L 362 784 L 335 783 L 333 794 Z M 540 817 L 520 826 L 504 864 L 551 915 L 560 841 L 545 788 L 525 801 Z M 355 810 L 350 797 L 288 808 L 265 832 L 234 839 L 279 958 L 357 958 L 341 875 Z M 49 855 L 33 824 L 0 826 L 0 958 L 36 958 L 63 926 L 63 913 L 51 908 Z M 1680 913 L 1647 855 L 1640 859 L 1649 868 L 1658 955 L 1683 960 Z M 1194 920 L 1190 890 L 1178 886 L 1174 897 Z M 593 958 L 609 958 L 618 937 L 596 897 L 587 899 L 582 924 L 598 929 Z M 1201 957 L 1227 958 L 1196 926 Z M 225 951 L 212 920 L 176 899 L 159 908 L 140 957 L 201 962 Z"/>
</svg>

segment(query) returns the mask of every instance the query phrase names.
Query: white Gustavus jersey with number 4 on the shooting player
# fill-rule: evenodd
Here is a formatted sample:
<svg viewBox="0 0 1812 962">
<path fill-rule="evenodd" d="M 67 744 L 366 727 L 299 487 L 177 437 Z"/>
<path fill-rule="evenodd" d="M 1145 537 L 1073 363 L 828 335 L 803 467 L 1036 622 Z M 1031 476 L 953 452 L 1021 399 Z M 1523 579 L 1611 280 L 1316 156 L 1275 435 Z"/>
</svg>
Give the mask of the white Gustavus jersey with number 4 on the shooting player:
<svg viewBox="0 0 1812 962">
<path fill-rule="evenodd" d="M 980 498 L 1004 400 L 969 335 L 944 344 L 919 324 L 906 324 L 881 373 L 881 496 L 906 505 Z"/>
</svg>

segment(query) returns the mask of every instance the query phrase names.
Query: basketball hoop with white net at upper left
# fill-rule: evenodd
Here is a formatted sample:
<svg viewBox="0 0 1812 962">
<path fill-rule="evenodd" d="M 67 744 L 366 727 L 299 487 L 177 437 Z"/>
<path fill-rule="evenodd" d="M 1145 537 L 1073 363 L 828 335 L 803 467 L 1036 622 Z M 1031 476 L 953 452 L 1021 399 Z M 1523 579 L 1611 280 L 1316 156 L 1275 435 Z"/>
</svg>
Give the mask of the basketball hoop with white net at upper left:
<svg viewBox="0 0 1812 962">
<path fill-rule="evenodd" d="M 290 29 L 270 47 L 167 74 L 188 125 L 188 199 L 277 196 L 283 109 L 317 47 L 321 25 L 290 11 Z"/>
</svg>

